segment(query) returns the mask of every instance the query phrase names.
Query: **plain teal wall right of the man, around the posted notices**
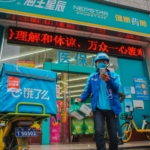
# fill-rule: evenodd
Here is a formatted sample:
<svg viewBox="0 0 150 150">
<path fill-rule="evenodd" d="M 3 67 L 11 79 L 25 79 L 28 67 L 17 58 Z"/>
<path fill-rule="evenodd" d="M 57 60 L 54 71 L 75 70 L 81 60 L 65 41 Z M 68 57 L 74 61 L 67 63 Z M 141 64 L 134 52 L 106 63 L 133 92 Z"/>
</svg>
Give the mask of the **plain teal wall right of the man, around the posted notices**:
<svg viewBox="0 0 150 150">
<path fill-rule="evenodd" d="M 146 64 L 144 61 L 118 58 L 118 65 L 119 65 L 122 86 L 134 86 L 133 83 L 134 76 L 147 77 L 147 72 L 144 69 L 146 68 Z M 132 95 L 132 100 L 136 100 L 135 95 Z M 123 109 L 124 109 L 124 103 L 123 103 Z M 144 109 L 135 110 L 135 112 L 133 113 L 134 120 L 138 128 L 140 128 L 142 124 L 141 123 L 143 119 L 142 115 L 149 115 L 149 114 L 150 114 L 150 101 L 146 100 L 144 101 Z"/>
</svg>

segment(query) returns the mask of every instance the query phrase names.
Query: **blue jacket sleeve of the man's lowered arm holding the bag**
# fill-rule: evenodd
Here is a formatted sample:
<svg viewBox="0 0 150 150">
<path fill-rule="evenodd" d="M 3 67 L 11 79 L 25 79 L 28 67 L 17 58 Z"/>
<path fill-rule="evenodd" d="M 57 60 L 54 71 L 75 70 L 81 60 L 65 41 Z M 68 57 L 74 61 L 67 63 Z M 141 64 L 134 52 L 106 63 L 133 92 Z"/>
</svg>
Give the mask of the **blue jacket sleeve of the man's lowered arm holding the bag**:
<svg viewBox="0 0 150 150">
<path fill-rule="evenodd" d="M 84 91 L 80 96 L 82 102 L 85 101 L 86 99 L 88 99 L 88 97 L 91 94 L 91 80 L 90 79 L 91 79 L 91 77 L 89 76 L 87 81 L 86 81 L 86 86 L 84 88 Z"/>
</svg>

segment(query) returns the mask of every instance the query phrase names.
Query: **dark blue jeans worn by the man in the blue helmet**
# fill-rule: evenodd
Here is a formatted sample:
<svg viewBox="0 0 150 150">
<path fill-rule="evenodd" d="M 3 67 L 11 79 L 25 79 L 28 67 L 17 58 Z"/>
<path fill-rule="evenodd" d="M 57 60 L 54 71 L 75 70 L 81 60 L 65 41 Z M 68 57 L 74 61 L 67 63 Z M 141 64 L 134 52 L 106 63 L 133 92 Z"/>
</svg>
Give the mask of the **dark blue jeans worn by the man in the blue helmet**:
<svg viewBox="0 0 150 150">
<path fill-rule="evenodd" d="M 109 150 L 118 150 L 117 118 L 112 110 L 100 110 L 96 108 L 94 114 L 95 140 L 97 150 L 106 150 L 104 140 L 104 120 L 106 118 L 109 134 Z"/>
</svg>

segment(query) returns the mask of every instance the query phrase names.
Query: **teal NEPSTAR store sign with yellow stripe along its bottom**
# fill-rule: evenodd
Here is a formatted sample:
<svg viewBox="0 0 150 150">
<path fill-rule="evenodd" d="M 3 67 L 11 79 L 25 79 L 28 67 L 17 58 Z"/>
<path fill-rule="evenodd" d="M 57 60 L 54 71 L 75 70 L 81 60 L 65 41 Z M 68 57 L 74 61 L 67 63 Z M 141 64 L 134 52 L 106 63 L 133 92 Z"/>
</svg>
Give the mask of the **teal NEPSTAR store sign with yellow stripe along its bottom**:
<svg viewBox="0 0 150 150">
<path fill-rule="evenodd" d="M 150 36 L 149 14 L 89 0 L 0 0 L 0 12 Z"/>
</svg>

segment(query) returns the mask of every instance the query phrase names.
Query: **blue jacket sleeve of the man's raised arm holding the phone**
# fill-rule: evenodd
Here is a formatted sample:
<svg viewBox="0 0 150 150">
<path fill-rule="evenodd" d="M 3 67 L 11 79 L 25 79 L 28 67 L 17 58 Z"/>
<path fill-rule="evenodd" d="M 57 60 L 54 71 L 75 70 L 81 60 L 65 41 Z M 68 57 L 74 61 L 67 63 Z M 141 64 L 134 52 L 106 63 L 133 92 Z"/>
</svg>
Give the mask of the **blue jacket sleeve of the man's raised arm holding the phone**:
<svg viewBox="0 0 150 150">
<path fill-rule="evenodd" d="M 110 77 L 110 80 L 106 83 L 113 93 L 117 93 L 121 86 L 119 75 L 116 75 L 115 78 Z"/>
</svg>

